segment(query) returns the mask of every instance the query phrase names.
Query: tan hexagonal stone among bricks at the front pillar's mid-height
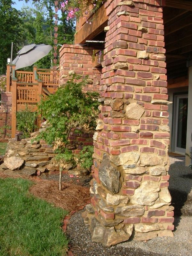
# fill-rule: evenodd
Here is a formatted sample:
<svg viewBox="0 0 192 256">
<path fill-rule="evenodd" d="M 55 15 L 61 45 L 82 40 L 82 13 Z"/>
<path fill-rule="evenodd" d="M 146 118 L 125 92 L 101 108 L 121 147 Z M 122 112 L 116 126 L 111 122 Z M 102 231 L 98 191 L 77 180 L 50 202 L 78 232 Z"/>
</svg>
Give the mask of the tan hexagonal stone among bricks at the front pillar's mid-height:
<svg viewBox="0 0 192 256">
<path fill-rule="evenodd" d="M 137 120 L 139 120 L 143 113 L 145 112 L 145 110 L 141 108 L 137 103 L 131 103 L 127 105 L 125 111 L 125 118 Z"/>
</svg>

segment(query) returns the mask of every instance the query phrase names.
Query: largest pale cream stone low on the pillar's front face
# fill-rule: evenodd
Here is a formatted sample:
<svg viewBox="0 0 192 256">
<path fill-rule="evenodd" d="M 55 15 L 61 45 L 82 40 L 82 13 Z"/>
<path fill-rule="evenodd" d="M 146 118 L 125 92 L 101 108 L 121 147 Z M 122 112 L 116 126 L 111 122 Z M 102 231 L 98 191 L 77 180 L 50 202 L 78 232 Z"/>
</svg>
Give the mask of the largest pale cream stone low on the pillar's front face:
<svg viewBox="0 0 192 256">
<path fill-rule="evenodd" d="M 135 189 L 134 195 L 131 198 L 132 204 L 153 205 L 159 194 L 159 185 L 155 181 L 143 181 L 139 188 Z"/>
</svg>

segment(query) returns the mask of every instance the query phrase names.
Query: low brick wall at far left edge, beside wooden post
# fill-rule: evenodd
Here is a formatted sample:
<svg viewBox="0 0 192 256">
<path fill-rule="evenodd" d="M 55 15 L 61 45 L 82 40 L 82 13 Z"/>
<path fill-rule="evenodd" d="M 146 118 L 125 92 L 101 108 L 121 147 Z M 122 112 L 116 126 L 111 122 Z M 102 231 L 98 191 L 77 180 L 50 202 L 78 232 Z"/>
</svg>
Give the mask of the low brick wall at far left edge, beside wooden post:
<svg viewBox="0 0 192 256">
<path fill-rule="evenodd" d="M 10 138 L 11 135 L 12 92 L 1 93 L 0 106 L 0 138 Z"/>
</svg>

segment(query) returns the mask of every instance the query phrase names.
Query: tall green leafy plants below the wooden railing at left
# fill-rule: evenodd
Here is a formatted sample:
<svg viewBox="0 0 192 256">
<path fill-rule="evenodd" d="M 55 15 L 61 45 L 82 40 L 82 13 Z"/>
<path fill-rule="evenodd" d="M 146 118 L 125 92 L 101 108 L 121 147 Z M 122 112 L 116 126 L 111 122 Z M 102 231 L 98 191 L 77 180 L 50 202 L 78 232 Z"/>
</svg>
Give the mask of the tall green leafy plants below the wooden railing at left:
<svg viewBox="0 0 192 256">
<path fill-rule="evenodd" d="M 22 138 L 29 138 L 30 134 L 35 131 L 35 121 L 37 119 L 37 112 L 30 112 L 26 105 L 25 110 L 20 110 L 16 113 L 17 130 L 23 132 Z"/>
</svg>

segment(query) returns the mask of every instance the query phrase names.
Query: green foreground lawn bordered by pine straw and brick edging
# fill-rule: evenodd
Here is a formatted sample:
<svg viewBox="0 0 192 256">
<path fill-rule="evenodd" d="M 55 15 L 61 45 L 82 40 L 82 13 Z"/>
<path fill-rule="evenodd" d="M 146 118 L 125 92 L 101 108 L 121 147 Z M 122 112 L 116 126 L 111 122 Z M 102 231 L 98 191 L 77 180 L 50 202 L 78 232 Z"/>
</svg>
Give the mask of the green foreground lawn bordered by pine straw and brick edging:
<svg viewBox="0 0 192 256">
<path fill-rule="evenodd" d="M 66 211 L 28 192 L 33 183 L 0 179 L 0 256 L 63 256 Z"/>
</svg>

